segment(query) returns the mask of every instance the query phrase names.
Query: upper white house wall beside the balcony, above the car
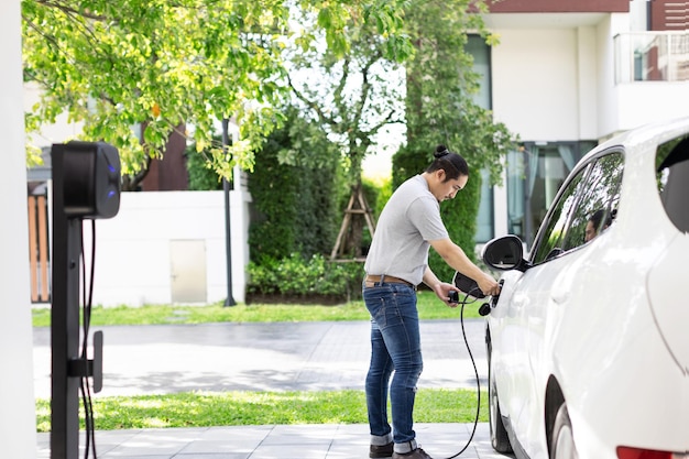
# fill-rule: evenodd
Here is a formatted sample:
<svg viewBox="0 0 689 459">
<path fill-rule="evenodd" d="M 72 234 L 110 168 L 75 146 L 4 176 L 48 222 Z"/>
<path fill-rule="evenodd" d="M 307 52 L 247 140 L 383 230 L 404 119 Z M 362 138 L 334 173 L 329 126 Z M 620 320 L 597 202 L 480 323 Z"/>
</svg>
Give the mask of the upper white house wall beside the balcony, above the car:
<svg viewBox="0 0 689 459">
<path fill-rule="evenodd" d="M 616 53 L 614 37 L 645 25 L 645 9 L 631 6 L 632 14 L 489 14 L 500 39 L 492 50 L 495 119 L 537 142 L 604 140 L 686 114 L 679 101 L 689 100 L 689 81 L 615 80 L 615 65 L 630 66 L 632 54 Z"/>
</svg>

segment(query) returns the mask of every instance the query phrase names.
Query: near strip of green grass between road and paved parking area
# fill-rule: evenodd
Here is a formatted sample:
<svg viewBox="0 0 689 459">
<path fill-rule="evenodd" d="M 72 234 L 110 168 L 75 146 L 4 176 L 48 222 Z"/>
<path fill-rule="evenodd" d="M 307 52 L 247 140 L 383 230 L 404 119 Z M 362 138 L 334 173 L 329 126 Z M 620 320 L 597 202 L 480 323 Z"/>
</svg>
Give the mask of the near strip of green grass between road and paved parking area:
<svg viewBox="0 0 689 459">
<path fill-rule="evenodd" d="M 488 396 L 481 393 L 480 422 L 488 422 Z M 363 391 L 183 392 L 94 400 L 98 430 L 296 424 L 365 424 Z M 51 401 L 36 401 L 37 431 L 51 430 Z M 418 423 L 471 423 L 477 394 L 466 389 L 420 389 Z M 81 429 L 84 411 L 80 411 Z"/>
</svg>

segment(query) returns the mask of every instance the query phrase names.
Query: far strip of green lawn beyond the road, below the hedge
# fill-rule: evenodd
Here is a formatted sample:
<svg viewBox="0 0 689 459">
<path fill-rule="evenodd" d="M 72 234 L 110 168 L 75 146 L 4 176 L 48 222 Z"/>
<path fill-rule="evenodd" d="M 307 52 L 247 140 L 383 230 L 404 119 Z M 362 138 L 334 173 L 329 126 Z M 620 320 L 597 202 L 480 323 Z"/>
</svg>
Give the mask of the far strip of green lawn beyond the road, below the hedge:
<svg viewBox="0 0 689 459">
<path fill-rule="evenodd" d="M 464 318 L 479 317 L 477 300 L 464 307 Z M 457 319 L 460 307 L 450 308 L 431 292 L 418 293 L 418 314 L 426 319 Z M 338 306 L 293 305 L 293 304 L 240 304 L 225 307 L 222 304 L 206 306 L 146 305 L 141 307 L 95 306 L 91 325 L 160 325 L 160 324 L 205 324 L 205 323 L 274 323 L 274 321 L 322 321 L 322 320 L 368 320 L 369 313 L 363 302 L 350 302 Z M 34 327 L 51 325 L 48 308 L 33 309 Z"/>
</svg>

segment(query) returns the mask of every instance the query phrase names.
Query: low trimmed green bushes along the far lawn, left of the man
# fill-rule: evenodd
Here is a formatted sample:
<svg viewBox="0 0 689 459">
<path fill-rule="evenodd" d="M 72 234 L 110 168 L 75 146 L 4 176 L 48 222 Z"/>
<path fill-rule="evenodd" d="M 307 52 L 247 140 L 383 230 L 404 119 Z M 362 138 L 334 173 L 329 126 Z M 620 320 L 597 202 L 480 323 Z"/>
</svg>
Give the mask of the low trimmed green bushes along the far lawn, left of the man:
<svg viewBox="0 0 689 459">
<path fill-rule="evenodd" d="M 347 299 L 361 296 L 361 263 L 329 262 L 320 254 L 305 259 L 294 253 L 281 260 L 263 258 L 261 264 L 249 263 L 248 271 L 247 293 Z"/>
</svg>

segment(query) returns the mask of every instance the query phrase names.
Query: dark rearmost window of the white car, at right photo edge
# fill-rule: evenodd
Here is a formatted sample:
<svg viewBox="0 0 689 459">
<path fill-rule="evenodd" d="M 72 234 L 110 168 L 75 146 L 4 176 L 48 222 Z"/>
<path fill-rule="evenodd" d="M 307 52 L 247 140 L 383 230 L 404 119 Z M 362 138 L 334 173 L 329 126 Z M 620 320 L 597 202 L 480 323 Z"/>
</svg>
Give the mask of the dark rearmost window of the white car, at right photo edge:
<svg viewBox="0 0 689 459">
<path fill-rule="evenodd" d="M 659 145 L 656 164 L 663 207 L 677 229 L 689 232 L 689 135 Z"/>
</svg>

